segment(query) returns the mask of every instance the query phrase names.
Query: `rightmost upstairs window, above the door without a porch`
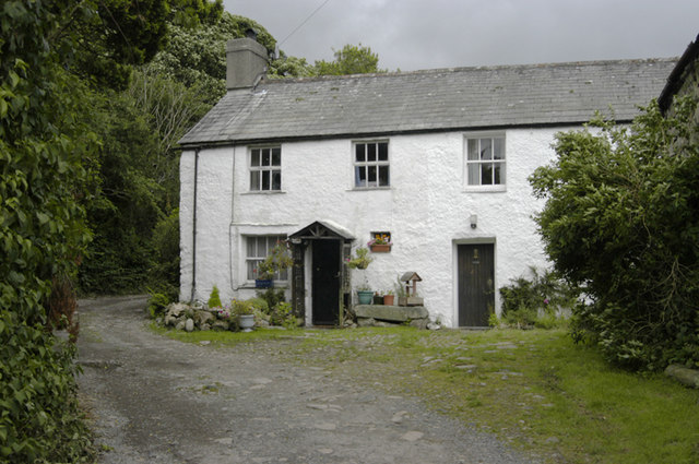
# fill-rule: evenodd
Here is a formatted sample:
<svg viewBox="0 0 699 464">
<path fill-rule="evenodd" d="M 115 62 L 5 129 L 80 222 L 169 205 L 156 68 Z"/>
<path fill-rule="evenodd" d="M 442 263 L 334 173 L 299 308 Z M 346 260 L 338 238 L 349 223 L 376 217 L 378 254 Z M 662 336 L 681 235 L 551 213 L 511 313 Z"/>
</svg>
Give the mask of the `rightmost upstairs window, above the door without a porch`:
<svg viewBox="0 0 699 464">
<path fill-rule="evenodd" d="M 505 185 L 505 138 L 466 139 L 466 185 Z"/>
</svg>

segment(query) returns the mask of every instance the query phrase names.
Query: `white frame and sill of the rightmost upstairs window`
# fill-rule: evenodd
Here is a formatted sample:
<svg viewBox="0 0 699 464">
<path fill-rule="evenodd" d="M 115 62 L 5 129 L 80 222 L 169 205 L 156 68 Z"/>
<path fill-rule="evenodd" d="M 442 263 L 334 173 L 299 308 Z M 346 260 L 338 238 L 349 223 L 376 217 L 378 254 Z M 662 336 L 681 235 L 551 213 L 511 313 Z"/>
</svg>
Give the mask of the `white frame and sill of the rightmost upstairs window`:
<svg viewBox="0 0 699 464">
<path fill-rule="evenodd" d="M 483 145 L 489 142 L 489 150 Z M 474 146 L 475 145 L 475 146 Z M 499 146 L 499 158 L 495 154 Z M 473 148 L 475 148 L 475 156 Z M 470 152 L 471 151 L 471 152 Z M 489 154 L 488 154 L 489 151 Z M 490 169 L 487 169 L 487 168 Z M 496 170 L 496 167 L 499 170 Z M 489 179 L 484 179 L 489 176 Z M 477 176 L 477 183 L 473 182 Z M 499 179 L 498 179 L 499 177 Z M 463 139 L 463 186 L 466 191 L 499 192 L 507 190 L 507 138 L 503 132 L 469 133 Z M 489 180 L 490 183 L 483 183 Z M 495 183 L 499 180 L 499 183 Z"/>
</svg>

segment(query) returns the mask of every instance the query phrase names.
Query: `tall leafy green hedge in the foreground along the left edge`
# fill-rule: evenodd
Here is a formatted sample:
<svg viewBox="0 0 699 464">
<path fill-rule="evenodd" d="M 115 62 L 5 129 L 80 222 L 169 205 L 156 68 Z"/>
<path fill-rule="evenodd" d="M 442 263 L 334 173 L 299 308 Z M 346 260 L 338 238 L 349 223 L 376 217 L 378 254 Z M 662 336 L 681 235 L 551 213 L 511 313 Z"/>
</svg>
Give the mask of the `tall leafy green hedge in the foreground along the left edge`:
<svg viewBox="0 0 699 464">
<path fill-rule="evenodd" d="M 0 460 L 81 462 L 74 347 L 45 329 L 51 281 L 72 275 L 86 240 L 81 83 L 64 71 L 73 2 L 0 8 Z M 84 13 L 84 12 L 83 12 Z M 80 14 L 83 14 L 80 13 Z"/>
</svg>

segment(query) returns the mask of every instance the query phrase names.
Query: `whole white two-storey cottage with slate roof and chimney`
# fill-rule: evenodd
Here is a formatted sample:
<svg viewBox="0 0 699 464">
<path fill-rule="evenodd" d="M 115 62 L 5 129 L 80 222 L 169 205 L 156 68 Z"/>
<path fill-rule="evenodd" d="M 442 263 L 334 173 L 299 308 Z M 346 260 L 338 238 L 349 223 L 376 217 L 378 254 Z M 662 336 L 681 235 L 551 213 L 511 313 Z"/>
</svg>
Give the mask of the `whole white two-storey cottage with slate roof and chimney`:
<svg viewBox="0 0 699 464">
<path fill-rule="evenodd" d="M 482 326 L 499 293 L 546 267 L 528 177 L 554 134 L 595 110 L 628 121 L 675 60 L 460 68 L 295 80 L 264 78 L 266 50 L 227 45 L 228 92 L 182 138 L 180 299 L 256 294 L 254 266 L 280 239 L 277 276 L 308 325 L 337 324 L 365 281 L 416 272 L 433 319 Z M 365 271 L 351 250 L 377 234 Z"/>
</svg>

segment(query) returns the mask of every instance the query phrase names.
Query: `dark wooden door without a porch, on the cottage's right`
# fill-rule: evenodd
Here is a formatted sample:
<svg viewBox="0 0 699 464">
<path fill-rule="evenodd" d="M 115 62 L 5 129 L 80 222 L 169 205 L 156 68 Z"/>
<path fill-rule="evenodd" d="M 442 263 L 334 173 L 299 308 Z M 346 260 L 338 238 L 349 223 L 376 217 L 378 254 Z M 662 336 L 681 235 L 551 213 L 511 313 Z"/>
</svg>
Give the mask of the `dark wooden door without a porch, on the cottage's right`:
<svg viewBox="0 0 699 464">
<path fill-rule="evenodd" d="M 459 326 L 487 326 L 495 311 L 493 243 L 459 246 Z"/>
</svg>

